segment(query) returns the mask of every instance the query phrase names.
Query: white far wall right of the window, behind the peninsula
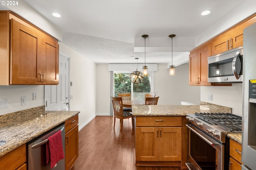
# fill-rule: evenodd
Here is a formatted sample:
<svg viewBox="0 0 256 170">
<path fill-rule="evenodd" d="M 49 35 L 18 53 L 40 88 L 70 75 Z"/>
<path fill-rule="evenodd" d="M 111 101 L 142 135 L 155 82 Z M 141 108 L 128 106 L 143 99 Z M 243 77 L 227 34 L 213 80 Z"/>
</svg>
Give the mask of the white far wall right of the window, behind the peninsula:
<svg viewBox="0 0 256 170">
<path fill-rule="evenodd" d="M 200 86 L 188 85 L 188 63 L 177 66 L 175 76 L 169 76 L 166 64 L 158 64 L 155 72 L 155 92 L 158 105 L 180 105 L 181 101 L 200 104 Z"/>
</svg>

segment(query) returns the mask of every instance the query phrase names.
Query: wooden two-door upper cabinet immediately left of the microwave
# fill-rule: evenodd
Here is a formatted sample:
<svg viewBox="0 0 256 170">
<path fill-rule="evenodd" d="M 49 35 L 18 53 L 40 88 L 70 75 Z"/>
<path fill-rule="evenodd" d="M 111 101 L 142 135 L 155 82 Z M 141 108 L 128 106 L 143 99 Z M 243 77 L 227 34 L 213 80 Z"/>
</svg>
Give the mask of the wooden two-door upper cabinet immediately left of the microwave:
<svg viewBox="0 0 256 170">
<path fill-rule="evenodd" d="M 208 83 L 208 57 L 211 55 L 211 44 L 206 43 L 189 55 L 189 85 L 211 86 Z"/>
</svg>

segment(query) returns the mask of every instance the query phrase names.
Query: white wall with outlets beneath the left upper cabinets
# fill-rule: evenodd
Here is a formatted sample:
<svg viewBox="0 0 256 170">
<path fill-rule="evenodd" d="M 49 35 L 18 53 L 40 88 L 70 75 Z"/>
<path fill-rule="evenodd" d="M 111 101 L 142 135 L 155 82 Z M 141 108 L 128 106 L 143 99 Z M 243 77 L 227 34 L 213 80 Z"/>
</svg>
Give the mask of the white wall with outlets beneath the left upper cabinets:
<svg viewBox="0 0 256 170">
<path fill-rule="evenodd" d="M 36 92 L 36 100 L 33 100 Z M 26 105 L 21 106 L 21 97 L 26 96 Z M 0 109 L 0 115 L 44 105 L 44 85 L 0 86 L 0 99 L 8 99 L 8 108 Z"/>
</svg>

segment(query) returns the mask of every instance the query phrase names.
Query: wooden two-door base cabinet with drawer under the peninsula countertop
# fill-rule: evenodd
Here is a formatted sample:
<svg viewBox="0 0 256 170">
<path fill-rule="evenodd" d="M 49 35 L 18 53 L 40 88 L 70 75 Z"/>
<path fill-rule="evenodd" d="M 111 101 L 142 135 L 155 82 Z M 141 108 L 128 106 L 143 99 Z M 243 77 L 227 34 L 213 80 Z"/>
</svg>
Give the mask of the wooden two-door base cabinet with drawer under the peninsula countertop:
<svg viewBox="0 0 256 170">
<path fill-rule="evenodd" d="M 135 119 L 136 165 L 183 167 L 184 161 L 185 166 L 187 152 L 183 149 L 188 147 L 182 138 L 186 140 L 188 134 L 182 131 L 185 127 L 182 127 L 181 116 L 138 116 Z"/>
</svg>

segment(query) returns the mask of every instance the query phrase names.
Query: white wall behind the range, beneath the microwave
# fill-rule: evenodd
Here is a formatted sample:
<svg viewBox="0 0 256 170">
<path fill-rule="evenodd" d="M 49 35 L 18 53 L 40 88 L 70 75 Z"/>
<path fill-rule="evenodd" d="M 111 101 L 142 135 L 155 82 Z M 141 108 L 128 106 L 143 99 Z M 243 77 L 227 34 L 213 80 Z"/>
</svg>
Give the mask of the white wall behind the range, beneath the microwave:
<svg viewBox="0 0 256 170">
<path fill-rule="evenodd" d="M 212 94 L 212 101 L 208 94 Z M 231 107 L 233 114 L 242 116 L 242 84 L 201 86 L 201 101 Z"/>
</svg>

